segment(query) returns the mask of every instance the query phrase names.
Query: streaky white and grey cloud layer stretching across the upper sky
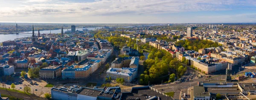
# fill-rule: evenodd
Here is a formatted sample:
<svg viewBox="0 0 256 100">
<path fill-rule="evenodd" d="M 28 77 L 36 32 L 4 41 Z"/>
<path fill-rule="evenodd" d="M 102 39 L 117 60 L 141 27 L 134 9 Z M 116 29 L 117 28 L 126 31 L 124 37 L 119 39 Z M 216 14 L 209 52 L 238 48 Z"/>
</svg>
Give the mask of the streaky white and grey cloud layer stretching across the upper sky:
<svg viewBox="0 0 256 100">
<path fill-rule="evenodd" d="M 146 16 L 179 12 L 229 11 L 241 6 L 256 6 L 255 0 L 94 0 L 93 2 L 61 0 L 22 0 L 14 7 L 0 7 L 1 17 L 85 17 Z M 247 15 L 253 17 L 254 15 Z M 199 16 L 228 18 L 231 15 Z"/>
</svg>

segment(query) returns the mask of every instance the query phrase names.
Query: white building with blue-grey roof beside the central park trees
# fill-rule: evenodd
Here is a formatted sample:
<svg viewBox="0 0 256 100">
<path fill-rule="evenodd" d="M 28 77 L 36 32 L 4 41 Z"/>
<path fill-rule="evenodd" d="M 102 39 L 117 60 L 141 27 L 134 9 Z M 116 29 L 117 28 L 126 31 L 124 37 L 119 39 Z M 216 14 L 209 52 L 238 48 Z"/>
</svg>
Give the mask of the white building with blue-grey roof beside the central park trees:
<svg viewBox="0 0 256 100">
<path fill-rule="evenodd" d="M 111 77 L 112 80 L 123 78 L 126 83 L 131 83 L 134 78 L 137 78 L 137 68 L 109 68 L 107 77 Z"/>
</svg>

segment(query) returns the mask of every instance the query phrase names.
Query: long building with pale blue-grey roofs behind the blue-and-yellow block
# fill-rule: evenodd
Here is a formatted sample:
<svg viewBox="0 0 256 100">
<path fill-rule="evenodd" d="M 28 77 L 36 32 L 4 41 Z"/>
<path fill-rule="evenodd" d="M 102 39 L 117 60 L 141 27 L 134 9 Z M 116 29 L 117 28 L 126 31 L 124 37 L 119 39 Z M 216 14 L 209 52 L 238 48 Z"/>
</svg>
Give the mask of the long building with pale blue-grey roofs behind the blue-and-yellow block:
<svg viewBox="0 0 256 100">
<path fill-rule="evenodd" d="M 104 64 L 107 61 L 107 59 L 111 56 L 111 53 L 111 49 L 101 49 L 98 50 L 96 53 L 87 56 L 87 59 L 100 60 L 101 64 Z"/>
</svg>

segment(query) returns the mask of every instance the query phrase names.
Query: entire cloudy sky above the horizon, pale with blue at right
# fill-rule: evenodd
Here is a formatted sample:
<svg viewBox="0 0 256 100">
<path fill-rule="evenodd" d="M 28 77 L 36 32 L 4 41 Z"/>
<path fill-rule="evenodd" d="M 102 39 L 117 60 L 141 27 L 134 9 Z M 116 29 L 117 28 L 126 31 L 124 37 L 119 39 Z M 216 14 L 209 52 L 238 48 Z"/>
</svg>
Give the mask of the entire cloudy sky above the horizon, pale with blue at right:
<svg viewBox="0 0 256 100">
<path fill-rule="evenodd" d="M 0 22 L 256 22 L 256 0 L 0 0 Z"/>
</svg>

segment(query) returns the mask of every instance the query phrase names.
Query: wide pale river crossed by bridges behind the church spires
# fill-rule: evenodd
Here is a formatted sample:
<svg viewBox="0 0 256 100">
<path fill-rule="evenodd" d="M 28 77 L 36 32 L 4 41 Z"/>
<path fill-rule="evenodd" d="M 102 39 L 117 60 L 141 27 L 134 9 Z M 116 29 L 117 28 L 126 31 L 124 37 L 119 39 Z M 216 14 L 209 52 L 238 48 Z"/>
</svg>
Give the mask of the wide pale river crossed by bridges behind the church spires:
<svg viewBox="0 0 256 100">
<path fill-rule="evenodd" d="M 101 28 L 101 27 L 96 27 L 96 28 L 87 28 L 88 30 L 95 30 L 97 28 Z M 79 31 L 83 31 L 84 28 L 76 28 L 76 30 L 79 30 Z M 63 29 L 63 31 L 67 31 L 67 30 L 71 30 L 71 29 Z M 14 39 L 17 39 L 17 38 L 23 38 L 23 37 L 30 37 L 32 36 L 32 34 L 25 34 L 25 33 L 32 33 L 32 31 L 29 31 L 29 32 L 23 32 L 23 33 L 19 33 L 18 35 L 17 34 L 6 34 L 6 35 L 3 35 L 3 34 L 0 34 L 0 42 L 4 42 L 4 41 L 8 41 L 8 40 L 14 40 Z M 35 34 L 37 35 L 38 31 L 36 30 L 35 31 Z M 50 30 L 46 30 L 46 31 L 40 31 L 41 34 L 48 34 L 50 33 Z M 61 29 L 59 30 L 51 30 L 51 33 L 61 33 Z"/>
</svg>

